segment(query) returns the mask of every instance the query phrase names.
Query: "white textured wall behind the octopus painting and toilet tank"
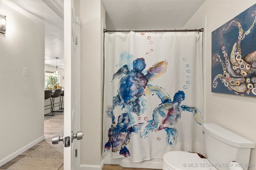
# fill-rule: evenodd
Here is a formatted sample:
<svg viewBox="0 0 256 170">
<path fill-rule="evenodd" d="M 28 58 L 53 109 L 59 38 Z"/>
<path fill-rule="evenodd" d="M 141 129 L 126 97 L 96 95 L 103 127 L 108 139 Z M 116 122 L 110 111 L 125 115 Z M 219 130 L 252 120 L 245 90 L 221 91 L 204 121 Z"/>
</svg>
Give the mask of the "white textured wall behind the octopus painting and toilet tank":
<svg viewBox="0 0 256 170">
<path fill-rule="evenodd" d="M 204 27 L 204 97 L 205 121 L 216 123 L 256 143 L 256 98 L 211 92 L 211 36 L 212 31 L 231 20 L 250 6 L 255 0 L 206 0 L 184 27 L 196 29 L 195 23 L 206 17 Z M 255 27 L 254 27 L 255 29 Z M 256 149 L 252 149 L 250 162 L 256 166 Z M 250 168 L 256 170 L 256 167 Z"/>
</svg>

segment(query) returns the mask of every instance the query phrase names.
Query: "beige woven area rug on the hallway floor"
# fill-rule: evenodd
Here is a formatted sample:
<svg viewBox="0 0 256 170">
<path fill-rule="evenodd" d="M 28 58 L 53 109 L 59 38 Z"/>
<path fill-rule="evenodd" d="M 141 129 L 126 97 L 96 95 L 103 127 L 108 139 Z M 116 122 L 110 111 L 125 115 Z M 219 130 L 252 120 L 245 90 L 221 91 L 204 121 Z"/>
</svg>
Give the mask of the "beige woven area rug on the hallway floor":
<svg viewBox="0 0 256 170">
<path fill-rule="evenodd" d="M 62 146 L 42 145 L 7 170 L 58 170 L 62 164 Z"/>
</svg>

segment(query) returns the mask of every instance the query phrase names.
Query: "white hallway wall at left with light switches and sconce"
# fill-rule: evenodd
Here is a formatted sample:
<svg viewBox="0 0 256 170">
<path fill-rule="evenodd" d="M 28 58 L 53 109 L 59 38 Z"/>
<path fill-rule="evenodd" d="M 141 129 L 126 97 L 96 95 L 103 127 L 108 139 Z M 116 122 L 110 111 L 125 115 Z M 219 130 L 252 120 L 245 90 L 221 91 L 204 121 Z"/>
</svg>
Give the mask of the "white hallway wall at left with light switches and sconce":
<svg viewBox="0 0 256 170">
<path fill-rule="evenodd" d="M 0 33 L 2 166 L 44 139 L 44 27 L 2 1 L 0 11 L 7 22 L 6 34 Z"/>
</svg>

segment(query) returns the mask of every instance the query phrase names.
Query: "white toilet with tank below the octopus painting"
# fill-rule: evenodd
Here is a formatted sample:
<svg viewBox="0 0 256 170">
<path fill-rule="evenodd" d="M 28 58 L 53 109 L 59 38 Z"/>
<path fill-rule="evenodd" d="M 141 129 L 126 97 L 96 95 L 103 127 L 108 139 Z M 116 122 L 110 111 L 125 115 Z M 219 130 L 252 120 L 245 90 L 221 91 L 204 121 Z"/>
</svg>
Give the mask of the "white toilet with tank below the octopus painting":
<svg viewBox="0 0 256 170">
<path fill-rule="evenodd" d="M 214 123 L 203 126 L 207 159 L 196 153 L 171 151 L 164 154 L 163 170 L 230 170 L 236 168 L 231 167 L 233 161 L 248 169 L 254 143 Z"/>
</svg>

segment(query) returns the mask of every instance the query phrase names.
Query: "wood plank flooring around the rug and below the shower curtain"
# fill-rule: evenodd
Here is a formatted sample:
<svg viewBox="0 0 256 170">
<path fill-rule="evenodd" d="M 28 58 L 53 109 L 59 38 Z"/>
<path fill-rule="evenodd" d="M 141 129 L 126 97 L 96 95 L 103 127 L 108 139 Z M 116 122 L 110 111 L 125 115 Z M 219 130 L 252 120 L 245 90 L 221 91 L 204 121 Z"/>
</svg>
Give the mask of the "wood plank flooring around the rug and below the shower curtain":
<svg viewBox="0 0 256 170">
<path fill-rule="evenodd" d="M 52 145 L 52 137 L 54 135 L 64 134 L 64 112 L 55 112 L 54 116 L 44 116 L 44 136 L 45 140 L 34 145 L 30 149 L 26 150 L 22 154 L 16 156 L 14 159 L 10 160 L 6 164 L 0 167 L 0 170 L 6 170 L 18 160 L 22 159 L 27 154 L 31 153 L 33 150 L 36 150 L 41 145 Z M 58 145 L 63 145 L 59 143 Z M 58 146 L 57 145 L 57 146 Z M 56 145 L 54 145 L 56 146 Z M 62 165 L 59 170 L 64 170 Z M 123 168 L 119 165 L 104 165 L 102 170 L 154 170 L 154 169 L 143 169 L 143 168 Z"/>
</svg>

